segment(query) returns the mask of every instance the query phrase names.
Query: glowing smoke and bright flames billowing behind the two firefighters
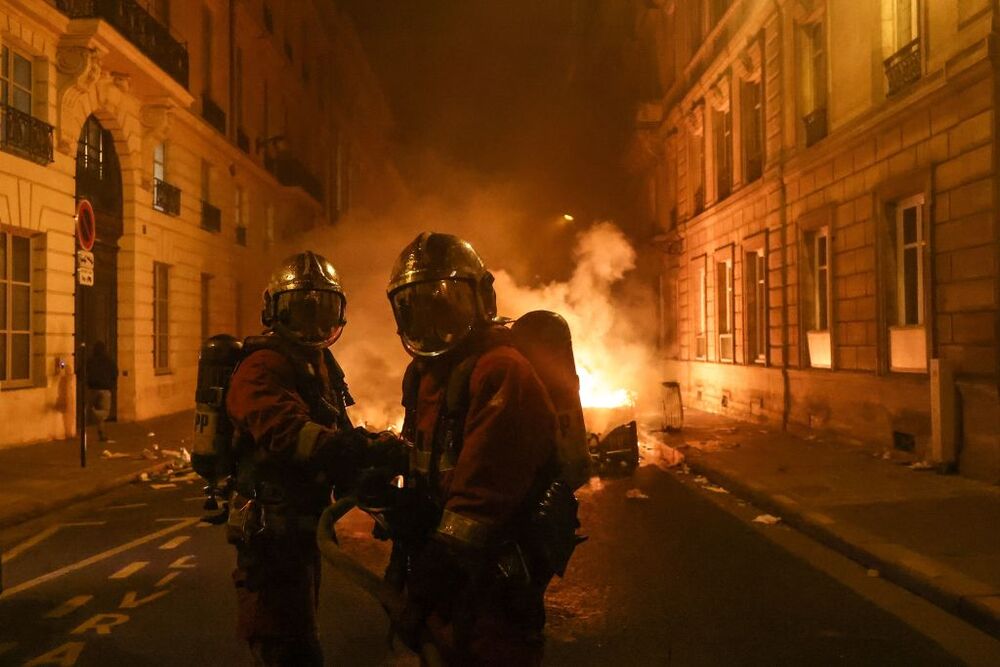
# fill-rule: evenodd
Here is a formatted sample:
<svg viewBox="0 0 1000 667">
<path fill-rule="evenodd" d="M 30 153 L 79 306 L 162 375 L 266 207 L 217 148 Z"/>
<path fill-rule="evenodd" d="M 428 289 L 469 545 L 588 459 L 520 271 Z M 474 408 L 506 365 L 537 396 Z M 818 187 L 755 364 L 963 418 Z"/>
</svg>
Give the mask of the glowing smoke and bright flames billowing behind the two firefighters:
<svg viewBox="0 0 1000 667">
<path fill-rule="evenodd" d="M 388 215 L 352 212 L 335 227 L 310 230 L 277 249 L 277 254 L 312 249 L 341 274 L 348 324 L 333 352 L 357 400 L 354 420 L 372 427 L 402 422 L 401 380 L 409 357 L 396 335 L 385 288 L 397 255 L 422 231 L 456 234 L 476 247 L 497 278 L 500 314 L 518 317 L 548 309 L 565 317 L 585 390 L 596 383 L 600 391 L 593 393 L 603 400 L 611 394 L 623 400 L 641 396 L 651 355 L 624 310 L 615 307 L 616 292 L 635 265 L 635 251 L 622 232 L 605 222 L 579 231 L 575 245 L 560 244 L 567 230 L 555 220 L 531 219 L 513 203 L 519 197 L 512 189 L 465 185 L 452 189 L 461 196 L 411 197 Z M 568 280 L 537 284 L 537 276 L 551 273 L 533 265 L 538 243 L 549 244 L 546 261 L 553 266 L 572 259 Z M 529 286 L 532 282 L 537 286 Z M 652 319 L 652 312 L 643 316 Z"/>
</svg>

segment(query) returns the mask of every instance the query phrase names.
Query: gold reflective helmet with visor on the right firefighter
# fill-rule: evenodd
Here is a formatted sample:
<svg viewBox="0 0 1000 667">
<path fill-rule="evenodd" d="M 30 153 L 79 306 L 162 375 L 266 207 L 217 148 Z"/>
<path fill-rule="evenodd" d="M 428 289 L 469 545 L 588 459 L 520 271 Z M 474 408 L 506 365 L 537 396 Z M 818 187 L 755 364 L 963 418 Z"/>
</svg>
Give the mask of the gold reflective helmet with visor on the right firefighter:
<svg viewBox="0 0 1000 667">
<path fill-rule="evenodd" d="M 437 357 L 497 314 L 493 274 L 475 249 L 451 234 L 423 232 L 400 253 L 386 290 L 403 347 Z"/>
</svg>

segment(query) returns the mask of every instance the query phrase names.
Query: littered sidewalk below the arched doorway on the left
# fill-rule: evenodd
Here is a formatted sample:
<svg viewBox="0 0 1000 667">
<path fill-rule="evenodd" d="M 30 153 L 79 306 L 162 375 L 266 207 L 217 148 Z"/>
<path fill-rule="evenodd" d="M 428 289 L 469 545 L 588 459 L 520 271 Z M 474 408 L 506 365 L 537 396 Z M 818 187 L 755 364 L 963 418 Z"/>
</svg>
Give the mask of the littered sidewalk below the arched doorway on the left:
<svg viewBox="0 0 1000 667">
<path fill-rule="evenodd" d="M 108 442 L 99 442 L 96 429 L 91 427 L 86 468 L 80 467 L 78 438 L 0 449 L 0 527 L 99 495 L 135 480 L 143 472 L 167 467 L 174 459 L 143 456 L 143 450 L 190 450 L 193 419 L 193 412 L 185 411 L 142 422 L 111 422 L 105 425 Z M 127 456 L 104 458 L 104 450 Z"/>
</svg>

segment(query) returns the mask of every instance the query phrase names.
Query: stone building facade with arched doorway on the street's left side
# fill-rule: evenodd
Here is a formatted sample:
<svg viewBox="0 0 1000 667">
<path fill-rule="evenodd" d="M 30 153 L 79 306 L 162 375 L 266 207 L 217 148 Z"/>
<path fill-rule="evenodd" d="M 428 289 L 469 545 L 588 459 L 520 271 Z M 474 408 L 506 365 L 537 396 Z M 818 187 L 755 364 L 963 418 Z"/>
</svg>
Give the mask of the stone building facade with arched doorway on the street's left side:
<svg viewBox="0 0 1000 667">
<path fill-rule="evenodd" d="M 118 419 L 190 408 L 201 340 L 255 331 L 277 245 L 398 186 L 335 3 L 7 0 L 0 48 L 0 447 L 75 432 L 98 340 Z"/>
</svg>

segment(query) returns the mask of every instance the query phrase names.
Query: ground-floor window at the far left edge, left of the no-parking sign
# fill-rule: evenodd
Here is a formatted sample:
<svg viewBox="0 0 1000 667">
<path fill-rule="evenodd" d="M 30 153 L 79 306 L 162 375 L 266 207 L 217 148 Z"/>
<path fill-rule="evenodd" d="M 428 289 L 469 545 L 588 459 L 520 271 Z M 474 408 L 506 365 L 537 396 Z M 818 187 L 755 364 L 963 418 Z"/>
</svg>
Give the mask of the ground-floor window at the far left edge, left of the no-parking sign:
<svg viewBox="0 0 1000 667">
<path fill-rule="evenodd" d="M 0 383 L 4 386 L 24 386 L 31 379 L 31 268 L 31 239 L 0 231 Z"/>
</svg>

